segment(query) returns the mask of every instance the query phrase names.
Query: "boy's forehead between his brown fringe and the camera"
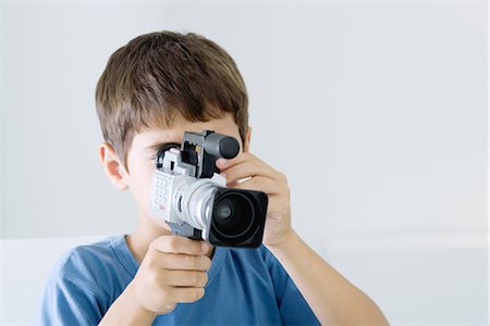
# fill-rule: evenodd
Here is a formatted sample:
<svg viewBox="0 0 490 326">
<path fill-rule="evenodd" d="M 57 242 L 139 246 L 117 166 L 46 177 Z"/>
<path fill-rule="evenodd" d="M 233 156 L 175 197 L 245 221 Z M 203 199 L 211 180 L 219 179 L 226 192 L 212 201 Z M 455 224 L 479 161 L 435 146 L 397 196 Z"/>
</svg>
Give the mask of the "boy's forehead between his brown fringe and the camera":
<svg viewBox="0 0 490 326">
<path fill-rule="evenodd" d="M 146 149 L 159 143 L 182 142 L 184 131 L 200 133 L 204 129 L 233 136 L 237 138 L 240 143 L 242 143 L 238 127 L 235 124 L 233 116 L 230 113 L 226 113 L 222 118 L 213 118 L 207 122 L 189 122 L 182 117 L 177 117 L 168 128 L 145 129 L 135 135 L 133 139 L 133 148 Z"/>
</svg>

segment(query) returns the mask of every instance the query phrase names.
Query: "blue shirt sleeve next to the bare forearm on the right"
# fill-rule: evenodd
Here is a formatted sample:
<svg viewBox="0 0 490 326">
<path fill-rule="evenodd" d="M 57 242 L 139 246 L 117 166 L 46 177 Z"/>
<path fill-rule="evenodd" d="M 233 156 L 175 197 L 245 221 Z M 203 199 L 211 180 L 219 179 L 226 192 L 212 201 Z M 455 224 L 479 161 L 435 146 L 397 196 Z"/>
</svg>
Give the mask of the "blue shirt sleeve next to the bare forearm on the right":
<svg viewBox="0 0 490 326">
<path fill-rule="evenodd" d="M 275 256 L 264 247 L 283 325 L 320 325 L 305 298 Z"/>
</svg>

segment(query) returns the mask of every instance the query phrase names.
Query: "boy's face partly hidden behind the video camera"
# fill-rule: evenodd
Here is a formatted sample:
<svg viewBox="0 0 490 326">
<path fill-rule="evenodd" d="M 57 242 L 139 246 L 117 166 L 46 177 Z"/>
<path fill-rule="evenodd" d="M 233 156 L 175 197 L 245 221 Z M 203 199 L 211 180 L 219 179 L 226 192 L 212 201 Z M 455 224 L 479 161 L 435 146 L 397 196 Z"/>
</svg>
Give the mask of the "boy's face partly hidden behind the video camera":
<svg viewBox="0 0 490 326">
<path fill-rule="evenodd" d="M 155 170 L 155 156 L 158 150 L 168 142 L 182 143 L 184 131 L 200 133 L 204 129 L 215 130 L 219 134 L 232 136 L 238 140 L 241 151 L 248 151 L 249 131 L 247 134 L 246 143 L 242 143 L 238 127 L 235 124 L 233 116 L 226 113 L 223 118 L 211 120 L 208 122 L 188 122 L 183 117 L 175 118 L 173 126 L 168 129 L 149 129 L 137 134 L 133 138 L 132 146 L 127 153 L 127 170 L 122 164 L 118 166 L 119 179 L 114 184 L 114 172 L 108 172 L 107 163 L 106 171 L 112 183 L 121 190 L 130 189 L 136 200 L 139 217 L 146 222 L 150 222 L 159 228 L 169 229 L 169 226 L 161 218 L 156 217 L 150 211 L 150 191 L 152 181 L 152 172 Z M 101 159 L 103 161 L 103 153 L 101 146 Z M 106 156 L 108 156 L 106 149 Z M 121 162 L 121 161 L 119 161 Z"/>
</svg>

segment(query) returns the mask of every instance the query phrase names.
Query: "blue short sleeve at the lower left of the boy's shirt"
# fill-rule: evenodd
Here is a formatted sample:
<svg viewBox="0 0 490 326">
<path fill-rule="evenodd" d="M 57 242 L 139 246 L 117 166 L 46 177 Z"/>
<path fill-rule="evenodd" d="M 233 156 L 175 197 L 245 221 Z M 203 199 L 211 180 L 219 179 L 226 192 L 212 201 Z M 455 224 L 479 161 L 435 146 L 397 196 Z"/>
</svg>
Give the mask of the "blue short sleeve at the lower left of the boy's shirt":
<svg viewBox="0 0 490 326">
<path fill-rule="evenodd" d="M 83 281 L 54 278 L 47 281 L 37 323 L 40 325 L 97 325 L 102 318 L 99 293 Z"/>
</svg>

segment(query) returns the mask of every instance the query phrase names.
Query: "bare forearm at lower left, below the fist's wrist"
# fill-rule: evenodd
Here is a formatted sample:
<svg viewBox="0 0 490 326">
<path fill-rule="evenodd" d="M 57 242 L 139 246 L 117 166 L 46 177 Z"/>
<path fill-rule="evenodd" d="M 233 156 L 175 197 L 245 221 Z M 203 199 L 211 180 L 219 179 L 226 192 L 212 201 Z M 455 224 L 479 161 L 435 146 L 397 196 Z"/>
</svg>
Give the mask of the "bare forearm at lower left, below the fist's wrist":
<svg viewBox="0 0 490 326">
<path fill-rule="evenodd" d="M 107 311 L 99 325 L 151 325 L 155 321 L 154 315 L 142 310 L 135 304 L 132 293 L 131 284 L 119 296 Z"/>
</svg>

